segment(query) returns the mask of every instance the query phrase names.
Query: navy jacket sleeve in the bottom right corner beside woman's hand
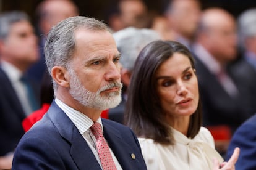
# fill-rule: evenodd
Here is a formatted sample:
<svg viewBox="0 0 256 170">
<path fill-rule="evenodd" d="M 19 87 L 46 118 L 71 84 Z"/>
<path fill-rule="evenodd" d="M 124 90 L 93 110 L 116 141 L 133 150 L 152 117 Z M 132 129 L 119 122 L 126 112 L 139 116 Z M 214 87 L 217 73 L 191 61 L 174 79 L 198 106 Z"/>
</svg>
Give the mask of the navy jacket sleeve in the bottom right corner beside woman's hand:
<svg viewBox="0 0 256 170">
<path fill-rule="evenodd" d="M 256 169 L 256 115 L 245 121 L 234 133 L 228 147 L 227 160 L 236 147 L 240 148 L 236 169 Z"/>
</svg>

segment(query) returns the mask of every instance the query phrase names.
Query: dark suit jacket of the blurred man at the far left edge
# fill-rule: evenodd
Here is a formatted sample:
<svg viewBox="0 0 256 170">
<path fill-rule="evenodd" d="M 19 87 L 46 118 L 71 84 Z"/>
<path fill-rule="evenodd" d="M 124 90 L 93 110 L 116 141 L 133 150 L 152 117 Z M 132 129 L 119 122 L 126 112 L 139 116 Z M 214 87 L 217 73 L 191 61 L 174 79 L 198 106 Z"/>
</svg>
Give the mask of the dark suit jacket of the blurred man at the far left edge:
<svg viewBox="0 0 256 170">
<path fill-rule="evenodd" d="M 13 152 L 24 134 L 22 120 L 25 118 L 25 113 L 11 81 L 1 68 L 0 82 L 0 156 L 2 156 Z"/>
</svg>

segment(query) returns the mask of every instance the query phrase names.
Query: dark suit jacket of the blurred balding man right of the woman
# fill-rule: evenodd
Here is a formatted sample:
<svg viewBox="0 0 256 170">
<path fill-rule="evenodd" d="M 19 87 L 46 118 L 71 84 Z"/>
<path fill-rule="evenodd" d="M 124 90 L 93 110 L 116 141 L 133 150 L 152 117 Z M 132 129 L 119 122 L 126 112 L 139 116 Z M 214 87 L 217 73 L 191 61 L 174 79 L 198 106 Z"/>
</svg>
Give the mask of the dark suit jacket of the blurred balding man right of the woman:
<svg viewBox="0 0 256 170">
<path fill-rule="evenodd" d="M 204 126 L 226 124 L 234 131 L 250 117 L 248 108 L 249 103 L 252 101 L 249 101 L 247 97 L 249 92 L 245 92 L 242 89 L 244 84 L 241 84 L 241 82 L 238 83 L 238 79 L 236 81 L 233 75 L 229 73 L 240 93 L 236 98 L 228 95 L 218 79 L 216 79 L 216 76 L 196 56 L 195 68 L 197 70 L 200 97 L 202 100 Z"/>
</svg>

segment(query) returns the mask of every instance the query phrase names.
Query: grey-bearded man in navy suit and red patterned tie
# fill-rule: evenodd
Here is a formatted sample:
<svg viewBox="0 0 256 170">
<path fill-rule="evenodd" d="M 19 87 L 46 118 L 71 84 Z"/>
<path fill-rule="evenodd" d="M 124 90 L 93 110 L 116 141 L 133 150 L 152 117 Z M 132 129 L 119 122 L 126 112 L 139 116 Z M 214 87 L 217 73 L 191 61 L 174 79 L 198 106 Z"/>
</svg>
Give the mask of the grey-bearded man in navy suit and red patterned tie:
<svg viewBox="0 0 256 170">
<path fill-rule="evenodd" d="M 49 32 L 45 57 L 56 98 L 20 140 L 12 169 L 147 169 L 134 133 L 100 118 L 119 104 L 122 87 L 120 54 L 106 25 L 63 20 Z"/>
</svg>

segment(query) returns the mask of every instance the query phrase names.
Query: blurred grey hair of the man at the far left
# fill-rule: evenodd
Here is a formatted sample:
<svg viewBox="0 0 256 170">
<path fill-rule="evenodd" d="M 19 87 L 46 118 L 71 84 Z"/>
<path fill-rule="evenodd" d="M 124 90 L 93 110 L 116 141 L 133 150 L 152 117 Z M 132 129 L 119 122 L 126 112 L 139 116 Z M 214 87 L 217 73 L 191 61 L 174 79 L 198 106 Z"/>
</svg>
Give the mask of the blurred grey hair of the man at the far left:
<svg viewBox="0 0 256 170">
<path fill-rule="evenodd" d="M 14 23 L 26 20 L 29 22 L 29 17 L 25 12 L 14 10 L 4 12 L 0 15 L 0 39 L 4 40 L 9 35 L 11 26 Z"/>
</svg>

